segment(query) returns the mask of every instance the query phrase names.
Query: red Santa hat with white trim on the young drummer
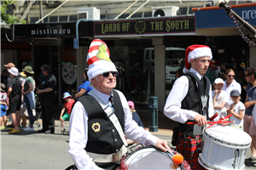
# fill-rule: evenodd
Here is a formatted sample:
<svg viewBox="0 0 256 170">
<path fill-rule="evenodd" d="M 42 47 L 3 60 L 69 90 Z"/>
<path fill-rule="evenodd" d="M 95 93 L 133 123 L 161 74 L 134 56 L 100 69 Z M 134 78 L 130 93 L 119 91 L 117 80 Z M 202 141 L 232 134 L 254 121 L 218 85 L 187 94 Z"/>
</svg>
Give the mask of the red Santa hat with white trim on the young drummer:
<svg viewBox="0 0 256 170">
<path fill-rule="evenodd" d="M 212 59 L 212 50 L 206 45 L 191 45 L 186 49 L 186 61 L 183 73 L 189 72 L 190 59 L 197 59 L 200 57 L 210 57 Z"/>
</svg>

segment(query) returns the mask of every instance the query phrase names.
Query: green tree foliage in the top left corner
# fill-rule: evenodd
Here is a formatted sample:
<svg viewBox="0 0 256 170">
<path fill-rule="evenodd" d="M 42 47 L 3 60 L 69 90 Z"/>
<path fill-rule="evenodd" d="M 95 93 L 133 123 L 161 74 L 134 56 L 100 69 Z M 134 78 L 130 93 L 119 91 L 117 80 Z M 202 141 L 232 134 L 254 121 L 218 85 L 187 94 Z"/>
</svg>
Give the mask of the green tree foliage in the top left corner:
<svg viewBox="0 0 256 170">
<path fill-rule="evenodd" d="M 15 24 L 15 23 L 22 23 L 25 24 L 26 20 L 20 20 L 18 17 L 7 14 L 7 6 L 15 3 L 15 0 L 0 0 L 0 17 L 6 24 Z"/>
</svg>

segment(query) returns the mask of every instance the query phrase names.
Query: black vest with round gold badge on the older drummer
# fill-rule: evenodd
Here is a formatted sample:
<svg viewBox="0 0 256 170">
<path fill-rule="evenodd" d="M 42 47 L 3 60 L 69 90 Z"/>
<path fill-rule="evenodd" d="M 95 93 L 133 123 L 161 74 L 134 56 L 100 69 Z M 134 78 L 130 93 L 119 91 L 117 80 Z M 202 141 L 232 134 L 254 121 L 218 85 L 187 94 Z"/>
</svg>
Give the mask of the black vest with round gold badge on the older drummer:
<svg viewBox="0 0 256 170">
<path fill-rule="evenodd" d="M 123 141 L 112 122 L 109 121 L 102 106 L 89 94 L 79 98 L 88 114 L 88 142 L 84 150 L 96 154 L 113 154 L 122 147 Z M 115 115 L 125 130 L 125 112 L 119 94 L 113 90 Z"/>
</svg>

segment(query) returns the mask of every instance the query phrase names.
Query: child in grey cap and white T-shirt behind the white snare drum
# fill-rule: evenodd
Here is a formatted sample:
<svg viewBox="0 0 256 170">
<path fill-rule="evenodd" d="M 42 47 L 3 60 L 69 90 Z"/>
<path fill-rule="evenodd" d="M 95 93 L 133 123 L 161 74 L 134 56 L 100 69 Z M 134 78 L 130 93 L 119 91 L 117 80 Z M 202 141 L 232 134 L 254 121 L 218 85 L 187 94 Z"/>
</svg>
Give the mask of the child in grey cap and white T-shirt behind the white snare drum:
<svg viewBox="0 0 256 170">
<path fill-rule="evenodd" d="M 230 116 L 230 121 L 236 121 L 235 123 L 230 123 L 230 126 L 243 130 L 243 116 L 245 113 L 245 106 L 240 101 L 241 97 L 238 90 L 232 90 L 230 92 L 230 98 L 234 102 L 230 105 L 229 114 L 232 114 L 232 116 Z"/>
</svg>

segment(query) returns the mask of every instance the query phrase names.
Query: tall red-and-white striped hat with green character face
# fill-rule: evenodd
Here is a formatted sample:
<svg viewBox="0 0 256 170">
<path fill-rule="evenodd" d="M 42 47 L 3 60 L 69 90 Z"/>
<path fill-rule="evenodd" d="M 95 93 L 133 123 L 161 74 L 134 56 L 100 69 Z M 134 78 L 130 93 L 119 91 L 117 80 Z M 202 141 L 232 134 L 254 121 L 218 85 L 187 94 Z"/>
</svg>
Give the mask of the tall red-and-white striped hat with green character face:
<svg viewBox="0 0 256 170">
<path fill-rule="evenodd" d="M 89 80 L 104 72 L 117 71 L 109 56 L 110 53 L 105 42 L 95 39 L 90 43 L 87 54 L 87 63 L 89 65 L 87 75 Z"/>
</svg>

